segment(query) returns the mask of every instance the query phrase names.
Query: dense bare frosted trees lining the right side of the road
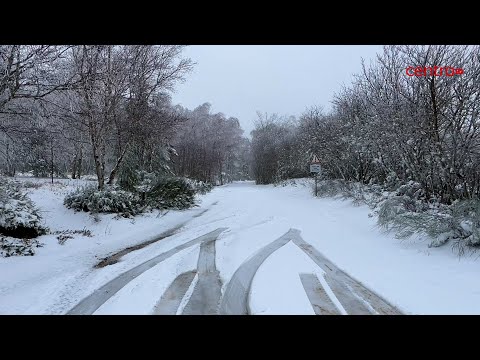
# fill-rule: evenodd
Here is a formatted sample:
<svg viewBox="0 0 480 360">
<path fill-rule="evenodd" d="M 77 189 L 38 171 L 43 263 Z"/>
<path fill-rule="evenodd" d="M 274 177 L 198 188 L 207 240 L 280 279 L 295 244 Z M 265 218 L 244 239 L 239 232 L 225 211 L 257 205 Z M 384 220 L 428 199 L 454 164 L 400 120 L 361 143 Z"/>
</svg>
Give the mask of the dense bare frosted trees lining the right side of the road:
<svg viewBox="0 0 480 360">
<path fill-rule="evenodd" d="M 410 76 L 413 67 L 462 69 Z M 364 184 L 421 184 L 428 200 L 450 204 L 480 193 L 480 47 L 385 46 L 333 111 L 299 119 L 259 115 L 252 132 L 258 183 L 306 176 L 310 156 L 324 175 Z"/>
</svg>

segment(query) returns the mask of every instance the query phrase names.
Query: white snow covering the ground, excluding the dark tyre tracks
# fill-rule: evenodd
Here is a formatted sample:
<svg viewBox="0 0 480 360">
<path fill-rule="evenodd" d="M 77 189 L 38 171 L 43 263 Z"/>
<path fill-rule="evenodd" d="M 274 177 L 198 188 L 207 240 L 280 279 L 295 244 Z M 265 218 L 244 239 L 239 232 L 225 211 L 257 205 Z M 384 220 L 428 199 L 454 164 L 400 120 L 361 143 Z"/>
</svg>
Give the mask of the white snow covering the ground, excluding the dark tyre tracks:
<svg viewBox="0 0 480 360">
<path fill-rule="evenodd" d="M 476 256 L 459 259 L 449 246 L 427 248 L 427 240 L 401 242 L 377 228 L 375 218 L 368 216 L 368 207 L 315 199 L 306 186 L 238 182 L 201 196 L 200 206 L 190 210 L 155 212 L 134 221 L 102 215 L 101 221 L 95 222 L 88 214 L 63 206 L 65 194 L 84 182 L 57 180 L 52 185 L 48 180 L 28 181 L 45 183 L 29 192 L 51 230 L 87 228 L 94 236 L 75 235 L 60 245 L 54 235 L 46 235 L 40 238 L 45 246 L 36 249 L 35 256 L 0 258 L 1 314 L 64 314 L 119 274 L 220 227 L 228 228 L 216 242 L 223 290 L 246 259 L 296 228 L 339 268 L 405 313 L 480 314 L 480 261 Z M 93 268 L 99 259 L 181 223 L 185 225 L 175 235 L 129 253 L 114 265 Z M 194 246 L 145 271 L 96 313 L 151 313 L 175 276 L 195 268 L 197 254 L 198 246 Z M 251 311 L 313 314 L 299 273 L 317 273 L 322 278 L 318 266 L 288 243 L 256 273 Z"/>
</svg>

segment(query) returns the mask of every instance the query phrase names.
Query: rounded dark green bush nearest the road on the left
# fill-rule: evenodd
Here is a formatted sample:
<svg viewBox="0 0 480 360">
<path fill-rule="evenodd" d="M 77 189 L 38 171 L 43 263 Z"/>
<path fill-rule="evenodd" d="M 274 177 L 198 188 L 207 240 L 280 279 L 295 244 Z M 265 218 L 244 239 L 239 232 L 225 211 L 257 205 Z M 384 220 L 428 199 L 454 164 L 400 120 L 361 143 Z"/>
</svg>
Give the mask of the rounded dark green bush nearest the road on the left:
<svg viewBox="0 0 480 360">
<path fill-rule="evenodd" d="M 185 178 L 159 177 L 147 194 L 155 209 L 187 209 L 195 205 L 195 190 Z"/>
</svg>

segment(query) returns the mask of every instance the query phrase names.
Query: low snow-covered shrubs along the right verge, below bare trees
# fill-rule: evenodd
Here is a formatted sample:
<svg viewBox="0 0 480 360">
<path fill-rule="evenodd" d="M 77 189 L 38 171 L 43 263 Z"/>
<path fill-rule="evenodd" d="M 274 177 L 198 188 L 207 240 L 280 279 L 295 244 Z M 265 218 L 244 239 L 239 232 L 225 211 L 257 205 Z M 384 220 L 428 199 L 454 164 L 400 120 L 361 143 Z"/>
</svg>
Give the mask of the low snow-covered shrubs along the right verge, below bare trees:
<svg viewBox="0 0 480 360">
<path fill-rule="evenodd" d="M 480 247 L 480 200 L 445 205 L 431 196 L 427 202 L 419 183 L 401 184 L 394 180 L 388 186 L 322 180 L 318 182 L 318 196 L 340 196 L 367 204 L 378 215 L 378 225 L 393 231 L 399 239 L 424 234 L 431 239 L 430 247 L 451 240 L 460 255 L 467 248 Z"/>
</svg>

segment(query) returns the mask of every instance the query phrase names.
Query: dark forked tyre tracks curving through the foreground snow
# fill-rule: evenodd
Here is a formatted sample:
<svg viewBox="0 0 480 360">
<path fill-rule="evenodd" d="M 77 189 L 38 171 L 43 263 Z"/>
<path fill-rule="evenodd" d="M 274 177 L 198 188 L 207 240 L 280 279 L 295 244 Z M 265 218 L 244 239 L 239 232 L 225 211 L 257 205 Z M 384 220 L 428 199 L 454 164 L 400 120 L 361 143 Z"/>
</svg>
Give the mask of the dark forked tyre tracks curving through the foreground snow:
<svg viewBox="0 0 480 360">
<path fill-rule="evenodd" d="M 226 228 L 216 229 L 136 266 L 109 281 L 100 289 L 95 290 L 93 294 L 83 299 L 67 314 L 93 314 L 127 283 L 145 271 L 178 252 L 200 243 L 197 269 L 178 275 L 162 295 L 153 313 L 155 315 L 177 313 L 184 315 L 250 315 L 248 296 L 255 274 L 274 251 L 286 245 L 289 241 L 305 251 L 324 273 L 324 281 L 318 281 L 318 278 L 313 274 L 300 274 L 306 295 L 316 314 L 401 314 L 398 309 L 388 304 L 384 299 L 340 271 L 333 263 L 307 244 L 300 237 L 300 231 L 296 229 L 290 229 L 285 235 L 263 247 L 242 263 L 230 279 L 222 298 L 222 283 L 215 265 L 215 242 L 218 235 L 225 230 Z M 288 266 L 288 264 L 284 265 Z M 193 292 L 188 297 L 183 311 L 179 311 L 183 299 L 186 298 L 186 292 L 195 277 L 197 277 L 197 282 L 193 287 Z"/>
</svg>

